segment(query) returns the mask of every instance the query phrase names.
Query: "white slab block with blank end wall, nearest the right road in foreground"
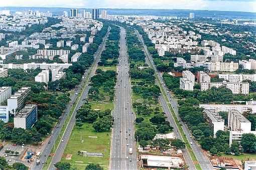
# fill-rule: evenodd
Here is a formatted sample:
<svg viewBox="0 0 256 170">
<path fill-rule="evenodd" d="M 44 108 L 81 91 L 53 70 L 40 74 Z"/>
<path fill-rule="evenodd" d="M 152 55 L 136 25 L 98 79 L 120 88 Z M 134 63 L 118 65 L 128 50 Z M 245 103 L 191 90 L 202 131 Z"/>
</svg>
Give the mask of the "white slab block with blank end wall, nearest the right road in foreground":
<svg viewBox="0 0 256 170">
<path fill-rule="evenodd" d="M 213 137 L 218 130 L 224 131 L 224 119 L 215 110 L 204 110 L 204 119 L 213 127 Z"/>
</svg>

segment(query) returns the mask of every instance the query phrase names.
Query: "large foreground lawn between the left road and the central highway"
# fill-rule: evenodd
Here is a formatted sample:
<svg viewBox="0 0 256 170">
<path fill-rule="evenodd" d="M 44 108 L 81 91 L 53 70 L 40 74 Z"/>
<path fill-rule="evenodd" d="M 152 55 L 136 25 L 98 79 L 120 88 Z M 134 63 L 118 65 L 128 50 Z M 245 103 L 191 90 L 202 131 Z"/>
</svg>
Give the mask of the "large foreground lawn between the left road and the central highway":
<svg viewBox="0 0 256 170">
<path fill-rule="evenodd" d="M 89 136 L 97 136 L 97 138 Z M 83 142 L 80 140 L 81 137 L 82 140 L 84 140 Z M 72 167 L 78 169 L 84 169 L 86 164 L 89 164 L 90 162 L 99 163 L 107 169 L 109 164 L 110 138 L 111 132 L 95 132 L 91 123 L 84 123 L 81 129 L 74 127 L 67 147 L 65 148 L 62 161 L 70 162 Z M 101 152 L 104 156 L 84 157 L 77 155 L 78 150 Z M 65 158 L 66 154 L 72 154 L 71 160 Z"/>
</svg>

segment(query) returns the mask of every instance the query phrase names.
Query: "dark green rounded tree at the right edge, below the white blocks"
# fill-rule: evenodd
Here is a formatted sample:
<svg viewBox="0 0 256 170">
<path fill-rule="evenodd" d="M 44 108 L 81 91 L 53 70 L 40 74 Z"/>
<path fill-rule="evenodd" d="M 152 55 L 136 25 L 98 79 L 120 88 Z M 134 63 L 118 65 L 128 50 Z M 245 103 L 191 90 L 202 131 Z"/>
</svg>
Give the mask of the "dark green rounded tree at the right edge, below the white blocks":
<svg viewBox="0 0 256 170">
<path fill-rule="evenodd" d="M 253 133 L 242 134 L 241 145 L 245 152 L 256 152 L 256 136 Z"/>
</svg>

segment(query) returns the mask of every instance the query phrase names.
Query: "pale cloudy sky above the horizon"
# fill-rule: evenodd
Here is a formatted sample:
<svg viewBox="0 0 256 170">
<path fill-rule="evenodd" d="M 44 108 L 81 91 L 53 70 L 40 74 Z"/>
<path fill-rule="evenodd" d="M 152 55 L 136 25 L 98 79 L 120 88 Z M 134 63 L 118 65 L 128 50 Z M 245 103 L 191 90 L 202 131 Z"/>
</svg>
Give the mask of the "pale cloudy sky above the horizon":
<svg viewBox="0 0 256 170">
<path fill-rule="evenodd" d="M 206 9 L 256 12 L 256 0 L 0 0 L 0 6 Z"/>
</svg>

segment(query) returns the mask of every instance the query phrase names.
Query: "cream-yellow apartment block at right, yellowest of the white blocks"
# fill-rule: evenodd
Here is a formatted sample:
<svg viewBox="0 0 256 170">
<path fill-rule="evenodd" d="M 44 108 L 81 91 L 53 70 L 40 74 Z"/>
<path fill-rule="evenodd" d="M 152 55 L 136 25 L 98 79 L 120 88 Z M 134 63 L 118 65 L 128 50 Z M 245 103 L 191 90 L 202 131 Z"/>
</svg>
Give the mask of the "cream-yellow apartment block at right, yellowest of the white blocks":
<svg viewBox="0 0 256 170">
<path fill-rule="evenodd" d="M 236 69 L 238 69 L 238 62 L 208 62 L 208 70 L 210 71 L 234 72 Z"/>
</svg>

